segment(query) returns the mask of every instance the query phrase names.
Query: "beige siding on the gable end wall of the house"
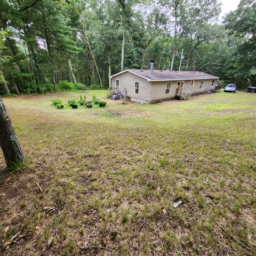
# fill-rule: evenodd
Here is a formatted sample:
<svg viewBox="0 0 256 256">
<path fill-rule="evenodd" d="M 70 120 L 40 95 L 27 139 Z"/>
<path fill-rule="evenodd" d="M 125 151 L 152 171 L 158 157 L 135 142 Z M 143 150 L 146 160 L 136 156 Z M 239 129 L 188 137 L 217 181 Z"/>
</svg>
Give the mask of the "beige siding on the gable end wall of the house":
<svg viewBox="0 0 256 256">
<path fill-rule="evenodd" d="M 148 82 L 147 79 L 125 72 L 112 78 L 113 89 L 115 89 L 116 79 L 119 80 L 120 91 L 122 91 L 124 87 L 126 88 L 127 97 L 150 101 L 151 82 Z M 135 94 L 135 82 L 139 82 L 139 94 Z"/>
</svg>

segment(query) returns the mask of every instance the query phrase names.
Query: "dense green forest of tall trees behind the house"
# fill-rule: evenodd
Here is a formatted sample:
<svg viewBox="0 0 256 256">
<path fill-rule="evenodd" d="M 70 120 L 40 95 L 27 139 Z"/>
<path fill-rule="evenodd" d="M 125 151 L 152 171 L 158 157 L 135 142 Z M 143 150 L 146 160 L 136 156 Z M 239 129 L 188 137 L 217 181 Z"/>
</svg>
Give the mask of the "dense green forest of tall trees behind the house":
<svg viewBox="0 0 256 256">
<path fill-rule="evenodd" d="M 0 92 L 107 88 L 121 70 L 199 70 L 256 84 L 256 2 L 0 0 Z"/>
</svg>

